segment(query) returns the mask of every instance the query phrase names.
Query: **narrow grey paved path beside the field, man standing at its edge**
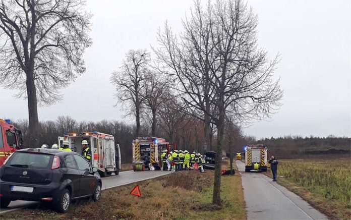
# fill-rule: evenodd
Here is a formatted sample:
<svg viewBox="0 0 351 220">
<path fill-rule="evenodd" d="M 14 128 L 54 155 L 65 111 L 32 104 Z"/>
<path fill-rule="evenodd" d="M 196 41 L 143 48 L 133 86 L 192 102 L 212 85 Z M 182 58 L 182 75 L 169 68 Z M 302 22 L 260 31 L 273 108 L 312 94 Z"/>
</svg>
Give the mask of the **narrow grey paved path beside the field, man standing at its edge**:
<svg viewBox="0 0 351 220">
<path fill-rule="evenodd" d="M 243 162 L 237 161 L 237 166 L 242 176 L 248 220 L 328 219 L 301 197 L 277 182 L 272 182 L 267 176 L 260 173 L 245 173 Z M 277 181 L 279 183 L 279 177 Z"/>
</svg>

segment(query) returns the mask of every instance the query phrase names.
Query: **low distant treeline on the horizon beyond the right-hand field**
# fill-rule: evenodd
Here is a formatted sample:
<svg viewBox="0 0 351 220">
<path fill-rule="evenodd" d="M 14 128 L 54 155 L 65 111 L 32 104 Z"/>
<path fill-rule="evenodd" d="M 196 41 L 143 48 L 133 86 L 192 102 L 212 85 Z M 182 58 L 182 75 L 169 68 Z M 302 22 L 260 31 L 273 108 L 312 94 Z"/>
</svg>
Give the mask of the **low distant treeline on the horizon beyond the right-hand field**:
<svg viewBox="0 0 351 220">
<path fill-rule="evenodd" d="M 344 154 L 351 153 L 351 138 L 335 137 L 301 137 L 285 136 L 278 138 L 264 138 L 255 140 L 249 138 L 256 144 L 265 144 L 271 154 L 281 158 L 296 158 L 304 155 L 323 155 L 323 154 Z"/>
</svg>

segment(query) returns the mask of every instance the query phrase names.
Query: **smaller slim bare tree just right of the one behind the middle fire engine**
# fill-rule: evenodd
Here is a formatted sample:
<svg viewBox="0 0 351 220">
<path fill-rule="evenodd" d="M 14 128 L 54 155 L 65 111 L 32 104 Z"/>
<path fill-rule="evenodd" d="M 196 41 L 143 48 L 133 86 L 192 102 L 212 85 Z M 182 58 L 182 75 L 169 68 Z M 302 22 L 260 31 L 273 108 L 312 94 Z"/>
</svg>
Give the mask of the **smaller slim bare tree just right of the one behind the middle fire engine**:
<svg viewBox="0 0 351 220">
<path fill-rule="evenodd" d="M 165 100 L 164 92 L 168 87 L 168 81 L 162 75 L 150 72 L 146 76 L 143 96 L 145 98 L 145 108 L 151 111 L 151 133 L 156 137 L 156 115 L 160 104 Z"/>
</svg>

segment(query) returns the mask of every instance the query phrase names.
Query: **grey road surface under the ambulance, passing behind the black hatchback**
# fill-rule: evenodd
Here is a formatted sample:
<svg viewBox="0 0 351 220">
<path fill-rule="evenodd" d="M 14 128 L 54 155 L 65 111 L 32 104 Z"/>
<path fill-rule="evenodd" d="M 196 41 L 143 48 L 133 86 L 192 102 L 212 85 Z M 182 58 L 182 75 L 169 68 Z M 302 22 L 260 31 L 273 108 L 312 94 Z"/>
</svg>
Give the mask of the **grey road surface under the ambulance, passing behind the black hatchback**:
<svg viewBox="0 0 351 220">
<path fill-rule="evenodd" d="M 144 181 L 160 176 L 164 176 L 170 174 L 167 171 L 144 171 L 144 172 L 134 172 L 134 171 L 124 171 L 120 172 L 118 176 L 107 176 L 102 178 L 102 190 L 113 188 L 116 186 L 123 186 L 130 183 L 135 183 L 139 181 Z M 5 213 L 8 211 L 18 210 L 20 208 L 24 208 L 30 205 L 35 205 L 37 202 L 29 202 L 29 201 L 12 201 L 7 208 L 0 208 L 0 213 Z"/>
</svg>

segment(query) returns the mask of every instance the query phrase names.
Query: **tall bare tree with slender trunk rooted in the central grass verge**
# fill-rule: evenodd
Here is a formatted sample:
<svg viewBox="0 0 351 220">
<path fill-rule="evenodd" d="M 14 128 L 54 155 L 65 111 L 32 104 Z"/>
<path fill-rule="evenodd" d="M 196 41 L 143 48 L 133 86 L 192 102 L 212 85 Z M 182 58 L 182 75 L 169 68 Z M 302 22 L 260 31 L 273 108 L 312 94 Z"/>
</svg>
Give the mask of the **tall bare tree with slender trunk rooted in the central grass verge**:
<svg viewBox="0 0 351 220">
<path fill-rule="evenodd" d="M 208 40 L 187 34 L 178 37 L 166 26 L 164 33 L 159 34 L 160 48 L 156 53 L 170 74 L 178 79 L 180 90 L 187 94 L 183 101 L 191 111 L 207 114 L 210 122 L 216 125 L 217 157 L 212 202 L 220 205 L 226 117 L 240 122 L 269 117 L 279 105 L 282 91 L 273 77 L 278 60 L 268 61 L 266 52 L 257 48 L 257 17 L 243 1 L 217 0 L 209 2 L 206 10 L 196 3 L 195 9 L 206 27 L 201 29 L 201 35 L 208 35 Z M 187 23 L 200 25 L 194 18 Z M 210 48 L 208 58 L 202 50 L 201 56 L 196 54 L 203 42 Z M 197 57 L 209 60 L 205 62 L 208 71 L 199 71 L 203 68 L 199 68 L 202 61 Z M 204 94 L 207 94 L 209 108 L 204 104 Z"/>
</svg>

